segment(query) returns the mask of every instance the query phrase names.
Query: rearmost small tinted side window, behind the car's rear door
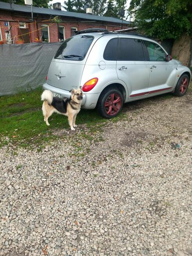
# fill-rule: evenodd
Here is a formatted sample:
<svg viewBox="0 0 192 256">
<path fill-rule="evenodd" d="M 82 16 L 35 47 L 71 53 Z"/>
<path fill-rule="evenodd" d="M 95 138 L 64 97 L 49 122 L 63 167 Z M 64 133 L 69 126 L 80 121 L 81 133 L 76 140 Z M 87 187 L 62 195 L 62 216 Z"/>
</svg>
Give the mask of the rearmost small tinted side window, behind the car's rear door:
<svg viewBox="0 0 192 256">
<path fill-rule="evenodd" d="M 108 41 L 103 58 L 106 60 L 117 60 L 117 47 L 118 47 L 118 38 L 113 38 Z"/>
</svg>

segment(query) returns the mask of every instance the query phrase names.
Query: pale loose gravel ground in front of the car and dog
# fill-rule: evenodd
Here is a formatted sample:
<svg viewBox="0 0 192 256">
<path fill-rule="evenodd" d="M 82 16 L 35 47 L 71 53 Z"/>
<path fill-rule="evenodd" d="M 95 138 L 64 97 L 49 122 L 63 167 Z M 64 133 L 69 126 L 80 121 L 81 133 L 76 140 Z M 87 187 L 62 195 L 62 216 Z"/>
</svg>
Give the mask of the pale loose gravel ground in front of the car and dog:
<svg viewBox="0 0 192 256">
<path fill-rule="evenodd" d="M 1 149 L 0 255 L 192 255 L 192 92 L 94 129 Z"/>
</svg>

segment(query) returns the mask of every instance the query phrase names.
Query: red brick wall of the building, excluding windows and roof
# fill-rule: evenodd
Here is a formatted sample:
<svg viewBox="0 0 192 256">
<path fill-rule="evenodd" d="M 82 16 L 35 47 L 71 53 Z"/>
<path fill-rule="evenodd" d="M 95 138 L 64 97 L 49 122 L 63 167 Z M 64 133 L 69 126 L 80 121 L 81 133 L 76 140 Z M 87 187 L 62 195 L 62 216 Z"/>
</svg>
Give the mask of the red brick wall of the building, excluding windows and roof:
<svg viewBox="0 0 192 256">
<path fill-rule="evenodd" d="M 48 31 L 49 31 L 49 40 L 51 43 L 58 42 L 58 25 L 61 25 L 65 27 L 65 39 L 69 38 L 71 34 L 71 27 L 76 27 L 78 31 L 83 30 L 83 29 L 88 29 L 88 28 L 104 28 L 108 29 L 108 31 L 114 31 L 121 29 L 121 24 L 120 25 L 109 25 L 108 23 L 102 22 L 100 23 L 86 23 L 86 22 L 77 22 L 77 21 L 72 21 L 72 20 L 66 20 L 66 22 L 59 23 L 58 25 L 56 23 L 43 23 L 43 20 L 48 20 L 50 17 L 49 16 L 38 16 L 38 22 L 32 23 L 30 22 L 31 19 L 31 14 L 25 14 L 23 15 L 21 13 L 11 13 L 9 11 L 0 11 L 0 29 L 1 29 L 1 34 L 2 34 L 2 40 L 5 42 L 5 33 L 11 27 L 11 39 L 12 42 L 13 40 L 18 40 L 19 39 L 19 23 L 18 22 L 26 22 L 26 28 L 29 28 L 29 36 L 30 36 L 30 41 L 34 42 L 35 38 L 41 38 L 41 26 L 42 25 L 48 25 Z M 5 26 L 5 21 L 9 21 L 9 27 Z M 123 29 L 126 29 L 127 26 L 123 26 Z M 35 31 L 37 30 L 38 31 Z M 22 38 L 21 38 L 22 39 Z M 42 38 L 41 38 L 42 41 Z"/>
</svg>

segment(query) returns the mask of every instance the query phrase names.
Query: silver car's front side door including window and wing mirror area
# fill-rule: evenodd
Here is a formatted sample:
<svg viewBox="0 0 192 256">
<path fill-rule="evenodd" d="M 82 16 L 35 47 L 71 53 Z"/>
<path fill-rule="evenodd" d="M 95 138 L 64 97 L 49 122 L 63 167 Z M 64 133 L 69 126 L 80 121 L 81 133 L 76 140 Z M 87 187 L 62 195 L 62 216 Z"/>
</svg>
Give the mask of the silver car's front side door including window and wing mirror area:
<svg viewBox="0 0 192 256">
<path fill-rule="evenodd" d="M 144 40 L 149 55 L 149 93 L 160 94 L 172 91 L 176 79 L 176 69 L 172 61 L 166 61 L 167 53 L 157 43 Z"/>
</svg>

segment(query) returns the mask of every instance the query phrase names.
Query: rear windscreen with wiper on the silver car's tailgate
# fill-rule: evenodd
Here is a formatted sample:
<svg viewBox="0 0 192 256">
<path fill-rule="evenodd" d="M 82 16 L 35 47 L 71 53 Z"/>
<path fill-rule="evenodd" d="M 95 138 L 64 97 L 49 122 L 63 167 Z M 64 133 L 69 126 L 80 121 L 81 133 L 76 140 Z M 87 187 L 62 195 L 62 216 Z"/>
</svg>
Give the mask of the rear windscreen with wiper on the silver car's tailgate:
<svg viewBox="0 0 192 256">
<path fill-rule="evenodd" d="M 93 39 L 94 37 L 89 35 L 71 37 L 62 43 L 54 58 L 81 61 L 85 58 Z"/>
</svg>

